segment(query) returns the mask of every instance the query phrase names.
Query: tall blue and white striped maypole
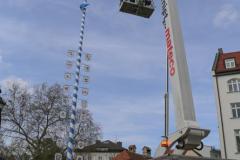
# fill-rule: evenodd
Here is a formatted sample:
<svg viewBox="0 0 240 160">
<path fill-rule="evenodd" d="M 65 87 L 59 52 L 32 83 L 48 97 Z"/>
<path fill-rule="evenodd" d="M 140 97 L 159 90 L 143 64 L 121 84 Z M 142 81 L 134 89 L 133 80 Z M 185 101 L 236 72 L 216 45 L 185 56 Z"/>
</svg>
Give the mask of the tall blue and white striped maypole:
<svg viewBox="0 0 240 160">
<path fill-rule="evenodd" d="M 75 121 L 76 121 L 76 107 L 77 107 L 77 98 L 78 98 L 78 89 L 79 89 L 79 81 L 80 81 L 80 66 L 81 66 L 81 56 L 83 52 L 83 36 L 84 36 L 84 28 L 85 28 L 85 19 L 86 19 L 86 10 L 87 0 L 80 5 L 80 9 L 82 11 L 82 22 L 81 22 L 81 32 L 80 32 L 80 41 L 78 48 L 78 55 L 76 60 L 76 77 L 75 84 L 73 87 L 73 97 L 72 97 L 72 107 L 71 107 L 71 117 L 70 117 L 70 128 L 69 128 L 69 138 L 68 138 L 68 147 L 67 147 L 67 160 L 73 160 L 73 148 L 75 145 Z"/>
</svg>

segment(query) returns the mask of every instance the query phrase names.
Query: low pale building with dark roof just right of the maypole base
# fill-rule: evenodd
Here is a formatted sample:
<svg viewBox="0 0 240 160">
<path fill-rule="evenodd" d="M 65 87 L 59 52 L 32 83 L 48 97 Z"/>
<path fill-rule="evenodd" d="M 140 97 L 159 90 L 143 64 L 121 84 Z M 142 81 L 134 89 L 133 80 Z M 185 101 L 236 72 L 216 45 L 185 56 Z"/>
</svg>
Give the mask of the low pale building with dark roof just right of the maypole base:
<svg viewBox="0 0 240 160">
<path fill-rule="evenodd" d="M 77 160 L 112 160 L 120 152 L 126 150 L 122 142 L 114 143 L 110 140 L 99 141 L 95 144 L 76 149 Z"/>
</svg>

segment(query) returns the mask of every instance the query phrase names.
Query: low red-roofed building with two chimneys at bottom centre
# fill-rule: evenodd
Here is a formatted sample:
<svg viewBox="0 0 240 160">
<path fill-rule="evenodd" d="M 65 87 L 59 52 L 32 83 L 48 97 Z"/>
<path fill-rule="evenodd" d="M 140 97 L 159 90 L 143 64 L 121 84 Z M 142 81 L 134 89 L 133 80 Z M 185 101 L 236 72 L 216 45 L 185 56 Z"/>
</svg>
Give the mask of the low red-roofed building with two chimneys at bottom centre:
<svg viewBox="0 0 240 160">
<path fill-rule="evenodd" d="M 142 149 L 142 154 L 136 153 L 136 146 L 130 145 L 128 150 L 124 150 L 119 153 L 113 160 L 149 160 L 151 157 L 151 149 L 144 146 Z"/>
</svg>

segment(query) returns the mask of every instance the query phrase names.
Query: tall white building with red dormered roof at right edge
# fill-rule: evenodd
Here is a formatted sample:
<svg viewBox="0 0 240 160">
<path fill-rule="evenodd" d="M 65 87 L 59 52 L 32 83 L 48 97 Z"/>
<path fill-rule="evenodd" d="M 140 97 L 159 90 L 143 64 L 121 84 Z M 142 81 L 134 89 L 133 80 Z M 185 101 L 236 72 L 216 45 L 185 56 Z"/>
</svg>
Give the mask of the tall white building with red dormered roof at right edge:
<svg viewBox="0 0 240 160">
<path fill-rule="evenodd" d="M 218 49 L 212 74 L 222 158 L 240 159 L 240 52 Z"/>
</svg>

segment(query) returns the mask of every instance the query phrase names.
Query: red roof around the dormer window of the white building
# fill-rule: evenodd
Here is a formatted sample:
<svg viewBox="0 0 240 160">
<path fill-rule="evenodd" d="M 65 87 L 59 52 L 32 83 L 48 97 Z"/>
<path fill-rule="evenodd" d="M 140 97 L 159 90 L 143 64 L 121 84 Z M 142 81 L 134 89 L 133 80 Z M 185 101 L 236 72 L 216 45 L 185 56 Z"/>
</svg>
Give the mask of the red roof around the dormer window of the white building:
<svg viewBox="0 0 240 160">
<path fill-rule="evenodd" d="M 225 60 L 230 58 L 235 59 L 236 67 L 226 69 Z M 222 49 L 219 49 L 218 53 L 215 56 L 212 70 L 214 71 L 215 75 L 240 73 L 240 51 L 223 53 Z"/>
</svg>

